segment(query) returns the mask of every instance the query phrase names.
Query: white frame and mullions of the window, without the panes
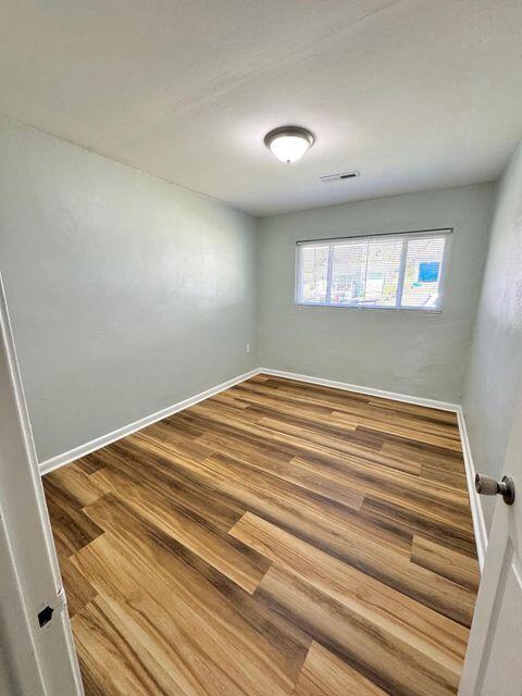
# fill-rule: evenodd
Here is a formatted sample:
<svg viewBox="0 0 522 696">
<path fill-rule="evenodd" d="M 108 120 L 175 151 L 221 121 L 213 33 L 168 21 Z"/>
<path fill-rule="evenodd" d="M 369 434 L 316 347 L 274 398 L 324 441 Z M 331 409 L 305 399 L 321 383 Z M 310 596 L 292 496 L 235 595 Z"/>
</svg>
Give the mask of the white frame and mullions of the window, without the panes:
<svg viewBox="0 0 522 696">
<path fill-rule="evenodd" d="M 308 239 L 303 241 L 296 243 L 296 272 L 295 272 L 295 295 L 294 301 L 298 307 L 311 307 L 311 308 L 327 308 L 327 309 L 352 309 L 359 311 L 370 311 L 370 310 L 384 310 L 384 311 L 395 311 L 395 312 L 427 312 L 431 314 L 440 314 L 444 307 L 445 301 L 445 287 L 446 287 L 446 278 L 448 274 L 448 260 L 449 260 L 449 249 L 451 246 L 451 235 L 453 228 L 452 227 L 443 227 L 440 229 L 420 229 L 414 232 L 398 232 L 398 233 L 381 233 L 373 235 L 352 235 L 350 237 L 333 237 L 328 239 Z M 444 253 L 440 262 L 440 281 L 438 285 L 438 303 L 436 307 L 408 307 L 401 306 L 402 293 L 403 293 L 403 284 L 405 284 L 405 272 L 406 272 L 406 261 L 408 257 L 408 243 L 410 239 L 425 239 L 425 238 L 436 238 L 436 237 L 445 237 L 444 245 Z M 383 239 L 386 241 L 394 241 L 397 239 L 403 240 L 402 244 L 402 253 L 400 258 L 400 268 L 399 268 L 399 278 L 397 285 L 397 299 L 395 306 L 386 306 L 386 304 L 338 304 L 330 301 L 331 291 L 332 291 L 332 261 L 333 261 L 333 252 L 332 249 L 335 246 L 343 246 L 347 241 L 370 241 L 374 239 Z M 307 302 L 303 301 L 300 296 L 301 288 L 301 262 L 300 262 L 300 249 L 304 247 L 314 247 L 314 246 L 327 246 L 328 247 L 328 272 L 327 272 L 327 288 L 326 288 L 326 301 L 324 302 Z"/>
</svg>

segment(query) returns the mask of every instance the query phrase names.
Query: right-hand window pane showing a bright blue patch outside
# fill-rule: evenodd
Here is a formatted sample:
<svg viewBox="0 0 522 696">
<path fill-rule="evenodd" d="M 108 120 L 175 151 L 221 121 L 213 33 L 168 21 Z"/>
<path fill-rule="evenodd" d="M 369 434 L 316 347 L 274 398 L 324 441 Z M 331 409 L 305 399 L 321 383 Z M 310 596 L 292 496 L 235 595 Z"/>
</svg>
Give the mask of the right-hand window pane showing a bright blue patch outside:
<svg viewBox="0 0 522 696">
<path fill-rule="evenodd" d="M 401 307 L 439 307 L 445 244 L 445 237 L 408 241 Z"/>
</svg>

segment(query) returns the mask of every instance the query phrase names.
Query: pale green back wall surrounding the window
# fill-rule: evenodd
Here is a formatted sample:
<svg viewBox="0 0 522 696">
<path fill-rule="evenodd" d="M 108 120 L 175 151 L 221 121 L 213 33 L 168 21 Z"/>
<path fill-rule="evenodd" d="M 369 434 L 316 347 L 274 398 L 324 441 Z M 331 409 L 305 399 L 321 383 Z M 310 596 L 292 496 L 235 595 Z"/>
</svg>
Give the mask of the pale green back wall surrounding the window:
<svg viewBox="0 0 522 696">
<path fill-rule="evenodd" d="M 494 196 L 483 184 L 261 220 L 261 364 L 460 402 Z M 440 314 L 294 303 L 297 240 L 434 227 L 455 227 Z"/>
</svg>

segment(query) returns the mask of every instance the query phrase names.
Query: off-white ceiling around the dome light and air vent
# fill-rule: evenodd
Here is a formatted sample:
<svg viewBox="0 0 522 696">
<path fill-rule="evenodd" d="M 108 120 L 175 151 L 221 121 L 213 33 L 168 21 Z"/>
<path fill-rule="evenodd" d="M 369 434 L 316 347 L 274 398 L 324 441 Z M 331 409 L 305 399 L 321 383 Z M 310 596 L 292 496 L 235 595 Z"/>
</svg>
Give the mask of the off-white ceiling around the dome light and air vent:
<svg viewBox="0 0 522 696">
<path fill-rule="evenodd" d="M 520 0 L 3 0 L 0 112 L 268 215 L 497 178 L 521 37 Z"/>
</svg>

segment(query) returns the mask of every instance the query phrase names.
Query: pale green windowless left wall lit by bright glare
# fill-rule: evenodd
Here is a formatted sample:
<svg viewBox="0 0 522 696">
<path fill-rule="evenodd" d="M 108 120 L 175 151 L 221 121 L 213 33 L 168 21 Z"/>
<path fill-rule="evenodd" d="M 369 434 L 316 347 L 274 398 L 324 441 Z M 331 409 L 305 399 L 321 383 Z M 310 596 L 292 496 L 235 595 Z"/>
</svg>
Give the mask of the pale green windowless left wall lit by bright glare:
<svg viewBox="0 0 522 696">
<path fill-rule="evenodd" d="M 258 363 L 253 219 L 9 121 L 0 271 L 40 461 Z"/>
</svg>

